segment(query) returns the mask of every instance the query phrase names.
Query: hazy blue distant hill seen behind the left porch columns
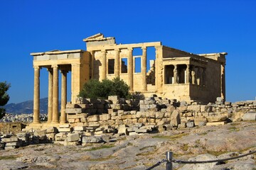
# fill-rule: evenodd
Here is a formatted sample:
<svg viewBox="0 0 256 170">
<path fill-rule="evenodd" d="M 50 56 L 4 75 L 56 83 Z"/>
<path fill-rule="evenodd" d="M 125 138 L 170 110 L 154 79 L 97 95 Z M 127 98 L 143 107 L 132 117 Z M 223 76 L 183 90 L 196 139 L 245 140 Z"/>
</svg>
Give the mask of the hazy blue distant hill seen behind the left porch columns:
<svg viewBox="0 0 256 170">
<path fill-rule="evenodd" d="M 6 113 L 33 113 L 33 101 L 23 101 L 16 104 L 10 103 L 4 106 L 4 108 L 6 108 Z M 48 113 L 48 98 L 40 99 L 40 113 Z"/>
</svg>

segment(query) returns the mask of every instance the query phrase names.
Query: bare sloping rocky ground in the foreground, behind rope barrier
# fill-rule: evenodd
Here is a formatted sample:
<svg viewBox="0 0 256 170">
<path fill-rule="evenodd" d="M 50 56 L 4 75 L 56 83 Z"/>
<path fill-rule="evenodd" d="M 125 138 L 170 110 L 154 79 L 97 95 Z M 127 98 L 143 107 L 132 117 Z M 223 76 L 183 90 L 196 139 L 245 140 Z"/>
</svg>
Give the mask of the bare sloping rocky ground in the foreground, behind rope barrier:
<svg viewBox="0 0 256 170">
<path fill-rule="evenodd" d="M 256 122 L 236 122 L 120 136 L 114 142 L 68 146 L 40 144 L 0 150 L 0 169 L 147 169 L 166 151 L 176 160 L 236 157 L 256 150 Z M 154 169 L 165 169 L 165 163 Z M 174 169 L 256 169 L 256 154 L 221 164 L 173 164 Z"/>
</svg>

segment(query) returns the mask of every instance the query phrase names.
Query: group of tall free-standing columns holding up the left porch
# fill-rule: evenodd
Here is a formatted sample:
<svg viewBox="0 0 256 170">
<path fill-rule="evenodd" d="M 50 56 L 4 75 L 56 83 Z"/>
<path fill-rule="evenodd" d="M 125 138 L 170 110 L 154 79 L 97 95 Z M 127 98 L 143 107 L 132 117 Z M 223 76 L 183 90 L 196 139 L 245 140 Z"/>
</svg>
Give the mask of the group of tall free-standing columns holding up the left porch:
<svg viewBox="0 0 256 170">
<path fill-rule="evenodd" d="M 33 123 L 40 123 L 40 67 L 34 67 Z M 67 73 L 61 72 L 61 113 L 58 115 L 58 65 L 48 68 L 48 123 L 65 123 L 67 103 Z"/>
</svg>

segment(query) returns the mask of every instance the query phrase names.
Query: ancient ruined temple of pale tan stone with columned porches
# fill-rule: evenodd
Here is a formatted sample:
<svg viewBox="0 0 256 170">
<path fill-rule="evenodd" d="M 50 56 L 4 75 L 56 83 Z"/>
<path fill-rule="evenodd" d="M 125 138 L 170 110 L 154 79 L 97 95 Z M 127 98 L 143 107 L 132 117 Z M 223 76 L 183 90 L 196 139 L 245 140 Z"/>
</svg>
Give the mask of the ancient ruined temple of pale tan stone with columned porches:
<svg viewBox="0 0 256 170">
<path fill-rule="evenodd" d="M 87 50 L 33 52 L 34 123 L 39 123 L 40 69 L 48 70 L 48 122 L 65 123 L 67 73 L 71 72 L 71 103 L 90 79 L 120 77 L 131 92 L 178 101 L 225 100 L 226 52 L 195 55 L 161 42 L 117 44 L 98 33 L 83 40 Z M 147 50 L 154 49 L 153 56 Z M 136 55 L 134 50 L 140 51 Z M 153 59 L 153 60 L 151 60 Z M 58 82 L 59 71 L 61 83 Z M 58 86 L 61 84 L 61 113 L 58 116 Z"/>
</svg>

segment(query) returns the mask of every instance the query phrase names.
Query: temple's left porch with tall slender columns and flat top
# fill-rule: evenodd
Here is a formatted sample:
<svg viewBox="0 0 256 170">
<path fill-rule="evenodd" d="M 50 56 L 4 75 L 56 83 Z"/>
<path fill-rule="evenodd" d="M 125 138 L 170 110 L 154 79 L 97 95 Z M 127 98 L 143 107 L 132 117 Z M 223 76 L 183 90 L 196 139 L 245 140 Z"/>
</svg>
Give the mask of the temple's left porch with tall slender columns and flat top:
<svg viewBox="0 0 256 170">
<path fill-rule="evenodd" d="M 34 96 L 33 123 L 40 123 L 40 69 L 48 70 L 48 123 L 65 123 L 67 73 L 71 72 L 71 102 L 75 103 L 82 86 L 90 79 L 90 53 L 83 50 L 35 52 L 33 55 Z M 61 109 L 59 102 L 59 70 L 61 74 Z"/>
</svg>

